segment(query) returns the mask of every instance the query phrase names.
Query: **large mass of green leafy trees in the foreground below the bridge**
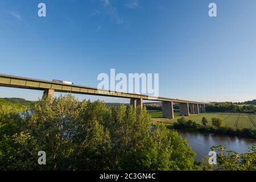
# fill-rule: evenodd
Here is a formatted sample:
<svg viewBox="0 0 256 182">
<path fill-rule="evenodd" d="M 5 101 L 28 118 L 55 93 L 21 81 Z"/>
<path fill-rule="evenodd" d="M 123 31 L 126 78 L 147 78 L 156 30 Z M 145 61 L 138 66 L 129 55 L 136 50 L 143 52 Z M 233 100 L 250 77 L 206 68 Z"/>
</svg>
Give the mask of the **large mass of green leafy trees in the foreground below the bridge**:
<svg viewBox="0 0 256 182">
<path fill-rule="evenodd" d="M 107 107 L 60 96 L 0 114 L 1 170 L 193 170 L 187 140 L 151 126 L 144 108 Z M 38 164 L 45 151 L 46 165 Z"/>
</svg>

